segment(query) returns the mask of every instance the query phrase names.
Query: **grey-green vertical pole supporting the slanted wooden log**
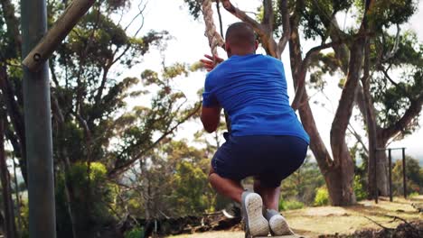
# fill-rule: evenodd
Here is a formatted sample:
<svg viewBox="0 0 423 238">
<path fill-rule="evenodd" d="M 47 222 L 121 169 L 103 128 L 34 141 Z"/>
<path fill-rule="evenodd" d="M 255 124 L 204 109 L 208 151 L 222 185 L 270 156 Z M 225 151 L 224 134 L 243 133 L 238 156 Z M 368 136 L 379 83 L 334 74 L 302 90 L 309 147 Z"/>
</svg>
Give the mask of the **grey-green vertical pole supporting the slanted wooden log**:
<svg viewBox="0 0 423 238">
<path fill-rule="evenodd" d="M 47 32 L 47 7 L 45 0 L 21 0 L 21 7 L 24 59 Z M 37 72 L 24 67 L 24 117 L 30 237 L 55 238 L 48 62 Z"/>
</svg>

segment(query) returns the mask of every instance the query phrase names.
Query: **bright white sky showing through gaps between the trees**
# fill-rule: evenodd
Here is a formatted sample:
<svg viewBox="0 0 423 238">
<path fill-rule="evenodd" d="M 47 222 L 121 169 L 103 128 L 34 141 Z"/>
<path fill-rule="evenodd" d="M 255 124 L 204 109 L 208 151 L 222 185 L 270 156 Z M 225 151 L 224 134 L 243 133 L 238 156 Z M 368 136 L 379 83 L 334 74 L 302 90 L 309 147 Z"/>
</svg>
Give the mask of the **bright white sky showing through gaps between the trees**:
<svg viewBox="0 0 423 238">
<path fill-rule="evenodd" d="M 127 14 L 128 16 L 136 14 L 136 0 L 132 2 L 132 10 Z M 233 0 L 233 5 L 240 7 L 240 9 L 246 12 L 256 12 L 258 5 L 261 4 L 259 0 Z M 347 15 L 348 16 L 348 15 Z M 215 14 L 215 17 L 216 14 Z M 127 18 L 129 19 L 129 18 Z M 223 28 L 226 30 L 227 26 L 230 23 L 238 22 L 239 20 L 228 14 L 225 10 L 222 9 L 222 19 L 223 19 Z M 346 18 L 348 19 L 348 18 Z M 419 41 L 423 41 L 423 24 L 421 21 L 423 19 L 423 1 L 420 1 L 418 4 L 418 14 L 415 14 L 410 23 L 408 23 L 404 29 L 412 29 L 418 33 Z M 142 21 L 138 21 L 142 23 Z M 347 22 L 347 21 L 345 21 Z M 217 24 L 218 22 L 215 21 Z M 134 67 L 131 70 L 125 72 L 121 77 L 139 77 L 140 73 L 145 69 L 155 69 L 160 71 L 162 57 L 167 65 L 170 65 L 174 62 L 185 62 L 192 64 L 195 61 L 198 61 L 202 58 L 204 53 L 209 53 L 210 48 L 207 38 L 204 36 L 205 26 L 202 22 L 202 16 L 199 20 L 194 20 L 193 16 L 188 14 L 188 8 L 183 4 L 183 0 L 150 0 L 146 4 L 146 10 L 144 12 L 144 27 L 141 33 L 149 32 L 150 30 L 155 31 L 168 31 L 173 37 L 171 41 L 168 41 L 167 48 L 164 53 L 160 53 L 158 50 L 151 50 L 143 59 L 143 62 Z M 304 43 L 303 51 L 318 45 L 319 41 L 306 41 Z M 258 51 L 258 53 L 265 53 L 263 50 Z M 219 51 L 220 56 L 225 56 L 223 50 Z M 292 86 L 292 76 L 291 69 L 289 66 L 289 55 L 288 50 L 285 50 L 282 55 L 282 62 L 285 66 L 285 71 L 287 74 L 287 86 L 288 86 L 288 96 L 291 100 L 295 96 L 294 88 Z M 194 103 L 198 100 L 197 91 L 203 87 L 205 78 L 205 72 L 194 72 L 191 73 L 188 78 L 177 78 L 176 85 L 179 87 L 185 96 L 189 99 L 189 102 Z M 329 132 L 334 118 L 334 111 L 336 110 L 337 101 L 341 95 L 341 89 L 337 87 L 338 78 L 334 80 L 328 80 L 329 83 L 324 89 L 324 94 L 313 94 L 310 102 L 319 102 L 324 103 L 324 106 L 312 104 L 312 109 L 315 114 L 315 121 L 321 136 L 323 137 L 324 143 L 328 150 L 330 150 L 329 142 Z M 140 103 L 132 102 L 135 105 Z M 132 104 L 131 103 L 131 104 Z M 354 114 L 358 114 L 358 111 L 354 111 Z M 328 120 L 331 118 L 331 120 Z M 419 119 L 419 124 L 423 125 L 423 116 Z M 355 122 L 352 118 L 351 125 L 354 130 L 365 134 L 362 129 L 362 124 Z M 189 124 L 184 124 L 183 128 L 180 129 L 176 135 L 177 138 L 187 138 L 192 139 L 193 133 L 198 130 L 201 130 L 202 126 L 200 122 L 193 122 Z M 365 136 L 364 136 L 365 137 Z M 423 146 L 421 146 L 421 140 L 423 139 L 423 129 L 418 129 L 417 132 L 409 135 L 405 139 L 392 142 L 390 147 L 407 147 L 406 153 L 418 158 L 420 164 L 423 163 Z M 353 142 L 352 139 L 349 142 Z M 393 156 L 400 155 L 400 152 L 397 154 L 393 153 Z"/>
</svg>

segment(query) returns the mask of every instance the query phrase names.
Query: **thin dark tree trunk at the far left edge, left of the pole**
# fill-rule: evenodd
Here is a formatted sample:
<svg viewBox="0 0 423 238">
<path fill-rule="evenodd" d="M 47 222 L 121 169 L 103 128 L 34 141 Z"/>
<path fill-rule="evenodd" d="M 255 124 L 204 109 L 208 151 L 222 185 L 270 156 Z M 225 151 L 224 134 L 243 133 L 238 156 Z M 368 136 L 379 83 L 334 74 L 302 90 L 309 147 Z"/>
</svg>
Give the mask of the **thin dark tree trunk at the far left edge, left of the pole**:
<svg viewBox="0 0 423 238">
<path fill-rule="evenodd" d="M 3 115 L 0 117 L 0 178 L 3 188 L 3 203 L 5 208 L 5 237 L 16 237 L 16 225 L 14 224 L 14 202 L 10 189 L 10 175 L 5 160 L 5 133 Z"/>
</svg>

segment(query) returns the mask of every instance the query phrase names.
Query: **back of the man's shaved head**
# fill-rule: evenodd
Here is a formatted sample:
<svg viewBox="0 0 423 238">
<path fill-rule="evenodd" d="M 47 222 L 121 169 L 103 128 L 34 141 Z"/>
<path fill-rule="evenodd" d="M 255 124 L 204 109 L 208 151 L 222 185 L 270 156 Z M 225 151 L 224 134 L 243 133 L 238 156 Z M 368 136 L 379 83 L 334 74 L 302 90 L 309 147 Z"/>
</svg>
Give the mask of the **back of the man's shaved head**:
<svg viewBox="0 0 423 238">
<path fill-rule="evenodd" d="M 233 23 L 226 31 L 226 43 L 230 47 L 248 50 L 254 48 L 256 36 L 253 28 L 248 23 Z M 255 50 L 255 49 L 254 49 Z"/>
</svg>

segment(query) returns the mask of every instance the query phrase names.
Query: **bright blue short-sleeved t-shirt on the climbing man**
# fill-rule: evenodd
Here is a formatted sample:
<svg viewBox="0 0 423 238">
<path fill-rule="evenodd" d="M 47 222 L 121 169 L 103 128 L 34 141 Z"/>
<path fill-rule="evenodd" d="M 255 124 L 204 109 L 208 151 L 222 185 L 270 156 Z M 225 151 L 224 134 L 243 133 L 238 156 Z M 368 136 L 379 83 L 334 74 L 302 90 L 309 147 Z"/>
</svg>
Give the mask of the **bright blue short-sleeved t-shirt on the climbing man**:
<svg viewBox="0 0 423 238">
<path fill-rule="evenodd" d="M 284 66 L 278 59 L 231 56 L 207 75 L 202 105 L 223 107 L 233 136 L 293 135 L 310 142 L 289 105 Z"/>
</svg>

